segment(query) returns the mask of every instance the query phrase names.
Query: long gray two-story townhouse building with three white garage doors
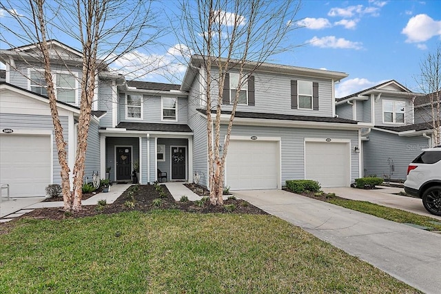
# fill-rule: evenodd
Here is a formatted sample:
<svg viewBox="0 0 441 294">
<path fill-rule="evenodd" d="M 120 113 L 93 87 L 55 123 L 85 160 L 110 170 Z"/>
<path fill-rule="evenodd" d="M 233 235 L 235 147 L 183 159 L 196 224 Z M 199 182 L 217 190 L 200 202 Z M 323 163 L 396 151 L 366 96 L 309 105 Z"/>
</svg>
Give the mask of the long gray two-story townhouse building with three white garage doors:
<svg viewBox="0 0 441 294">
<path fill-rule="evenodd" d="M 50 43 L 72 170 L 81 52 L 58 41 Z M 45 186 L 60 182 L 60 167 L 39 53 L 29 45 L 0 50 L 0 59 L 6 63 L 4 81 L 0 80 L 0 181 L 11 185 L 13 196 L 41 196 Z M 103 177 L 111 167 L 112 181 L 127 182 L 138 166 L 141 184 L 158 180 L 161 170 L 169 181 L 192 182 L 197 173 L 201 185 L 207 185 L 201 56 L 192 56 L 183 85 L 126 81 L 105 66 L 96 75 L 85 162 L 89 180 L 93 171 Z M 281 189 L 285 180 L 308 178 L 322 187 L 349 186 L 360 177 L 360 130 L 369 123 L 336 117 L 334 84 L 346 76 L 269 63 L 247 75 L 228 149 L 225 185 Z M 230 70 L 223 90 L 223 138 L 237 77 Z"/>
</svg>

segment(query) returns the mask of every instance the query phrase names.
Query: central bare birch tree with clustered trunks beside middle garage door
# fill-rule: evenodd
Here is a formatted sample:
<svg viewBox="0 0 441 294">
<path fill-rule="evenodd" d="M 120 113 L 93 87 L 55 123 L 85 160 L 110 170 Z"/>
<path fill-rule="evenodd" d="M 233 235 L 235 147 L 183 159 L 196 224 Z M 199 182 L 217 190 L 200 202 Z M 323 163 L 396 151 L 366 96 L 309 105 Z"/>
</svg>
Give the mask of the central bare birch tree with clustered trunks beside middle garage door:
<svg viewBox="0 0 441 294">
<path fill-rule="evenodd" d="M 183 3 L 178 35 L 203 67 L 210 200 L 223 204 L 225 160 L 240 90 L 270 56 L 287 50 L 288 32 L 296 28 L 299 1 L 198 0 Z M 191 65 L 190 65 L 191 66 Z M 238 73 L 223 153 L 220 154 L 221 111 L 227 72 Z M 214 112 L 212 116 L 212 112 Z"/>
</svg>

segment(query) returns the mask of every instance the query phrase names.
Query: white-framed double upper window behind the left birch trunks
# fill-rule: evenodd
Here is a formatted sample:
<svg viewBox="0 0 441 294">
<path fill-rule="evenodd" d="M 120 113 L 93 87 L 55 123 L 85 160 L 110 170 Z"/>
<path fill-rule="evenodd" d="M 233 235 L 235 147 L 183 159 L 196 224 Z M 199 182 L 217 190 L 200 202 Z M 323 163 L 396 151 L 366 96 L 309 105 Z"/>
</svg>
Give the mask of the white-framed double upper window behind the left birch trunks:
<svg viewBox="0 0 441 294">
<path fill-rule="evenodd" d="M 52 73 L 54 81 L 54 90 L 57 100 L 65 103 L 77 104 L 77 80 L 76 76 L 70 72 Z M 39 70 L 30 70 L 29 87 L 32 92 L 48 95 L 44 72 Z"/>
</svg>

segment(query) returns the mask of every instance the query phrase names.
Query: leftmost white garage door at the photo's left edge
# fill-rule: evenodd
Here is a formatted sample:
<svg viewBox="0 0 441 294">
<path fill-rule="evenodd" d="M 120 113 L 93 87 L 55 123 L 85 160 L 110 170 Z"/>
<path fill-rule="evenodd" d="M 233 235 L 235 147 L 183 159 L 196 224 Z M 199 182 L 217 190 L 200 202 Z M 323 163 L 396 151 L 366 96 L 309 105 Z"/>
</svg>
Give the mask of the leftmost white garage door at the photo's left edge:
<svg viewBox="0 0 441 294">
<path fill-rule="evenodd" d="M 10 185 L 10 196 L 45 195 L 50 150 L 50 136 L 0 136 L 0 182 Z"/>
</svg>

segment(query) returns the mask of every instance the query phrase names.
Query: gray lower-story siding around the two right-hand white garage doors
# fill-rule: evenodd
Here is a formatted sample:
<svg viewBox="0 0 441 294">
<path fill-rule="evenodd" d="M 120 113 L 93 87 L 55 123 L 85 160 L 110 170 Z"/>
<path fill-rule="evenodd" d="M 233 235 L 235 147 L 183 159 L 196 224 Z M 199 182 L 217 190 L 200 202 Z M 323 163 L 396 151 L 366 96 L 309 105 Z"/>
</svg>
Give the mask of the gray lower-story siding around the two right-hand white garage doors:
<svg viewBox="0 0 441 294">
<path fill-rule="evenodd" d="M 221 129 L 221 138 L 225 138 L 226 127 Z M 351 150 L 358 145 L 358 132 L 338 129 L 300 129 L 289 127 L 260 127 L 234 125 L 232 136 L 265 136 L 281 138 L 282 182 L 305 179 L 305 138 L 333 138 L 351 141 Z M 223 145 L 223 144 L 222 144 Z M 351 152 L 351 182 L 358 178 L 359 156 Z M 329 170 L 329 173 L 332 173 Z"/>
</svg>

